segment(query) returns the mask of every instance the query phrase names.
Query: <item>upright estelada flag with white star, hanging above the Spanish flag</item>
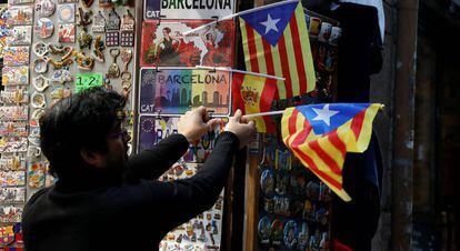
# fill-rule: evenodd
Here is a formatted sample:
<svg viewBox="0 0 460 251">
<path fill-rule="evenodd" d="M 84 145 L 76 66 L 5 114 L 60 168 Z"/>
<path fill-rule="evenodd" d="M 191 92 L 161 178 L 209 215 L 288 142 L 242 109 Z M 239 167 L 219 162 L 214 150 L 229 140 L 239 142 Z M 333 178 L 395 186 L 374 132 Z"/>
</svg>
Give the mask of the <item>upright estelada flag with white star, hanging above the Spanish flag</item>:
<svg viewBox="0 0 460 251">
<path fill-rule="evenodd" d="M 303 8 L 299 1 L 272 6 L 240 16 L 246 69 L 286 78 L 278 82 L 280 99 L 302 96 L 316 86 Z"/>
</svg>

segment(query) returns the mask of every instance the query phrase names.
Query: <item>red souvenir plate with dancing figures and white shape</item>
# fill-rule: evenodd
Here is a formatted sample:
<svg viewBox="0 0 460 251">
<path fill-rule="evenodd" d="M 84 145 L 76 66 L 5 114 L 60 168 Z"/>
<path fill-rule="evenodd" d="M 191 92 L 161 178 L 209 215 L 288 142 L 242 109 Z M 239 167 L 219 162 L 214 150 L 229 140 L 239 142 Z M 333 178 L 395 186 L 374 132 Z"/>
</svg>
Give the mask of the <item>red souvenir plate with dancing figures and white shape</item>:
<svg viewBox="0 0 460 251">
<path fill-rule="evenodd" d="M 231 67 L 234 43 L 233 20 L 220 21 L 182 36 L 207 21 L 143 22 L 141 67 Z"/>
</svg>

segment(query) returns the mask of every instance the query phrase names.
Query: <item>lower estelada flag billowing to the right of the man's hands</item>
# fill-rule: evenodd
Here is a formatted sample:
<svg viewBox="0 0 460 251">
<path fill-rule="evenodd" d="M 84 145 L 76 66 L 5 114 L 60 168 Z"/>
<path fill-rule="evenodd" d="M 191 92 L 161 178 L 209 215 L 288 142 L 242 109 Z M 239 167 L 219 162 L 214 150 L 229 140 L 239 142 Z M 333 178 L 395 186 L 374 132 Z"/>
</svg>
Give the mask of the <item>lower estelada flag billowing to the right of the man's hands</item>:
<svg viewBox="0 0 460 251">
<path fill-rule="evenodd" d="M 372 121 L 382 104 L 331 103 L 286 109 L 281 119 L 284 144 L 342 200 L 347 152 L 363 152 L 369 145 Z"/>
</svg>

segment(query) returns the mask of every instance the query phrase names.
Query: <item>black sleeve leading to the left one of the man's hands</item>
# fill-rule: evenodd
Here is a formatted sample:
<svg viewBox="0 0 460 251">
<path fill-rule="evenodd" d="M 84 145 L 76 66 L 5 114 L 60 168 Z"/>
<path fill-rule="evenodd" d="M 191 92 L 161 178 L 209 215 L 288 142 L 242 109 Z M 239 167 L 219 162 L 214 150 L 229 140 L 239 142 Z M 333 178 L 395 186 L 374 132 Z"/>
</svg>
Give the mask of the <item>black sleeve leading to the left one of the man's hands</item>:
<svg viewBox="0 0 460 251">
<path fill-rule="evenodd" d="M 131 157 L 128 160 L 124 179 L 127 181 L 158 179 L 187 152 L 189 145 L 182 134 L 168 137 L 152 149 Z"/>
</svg>

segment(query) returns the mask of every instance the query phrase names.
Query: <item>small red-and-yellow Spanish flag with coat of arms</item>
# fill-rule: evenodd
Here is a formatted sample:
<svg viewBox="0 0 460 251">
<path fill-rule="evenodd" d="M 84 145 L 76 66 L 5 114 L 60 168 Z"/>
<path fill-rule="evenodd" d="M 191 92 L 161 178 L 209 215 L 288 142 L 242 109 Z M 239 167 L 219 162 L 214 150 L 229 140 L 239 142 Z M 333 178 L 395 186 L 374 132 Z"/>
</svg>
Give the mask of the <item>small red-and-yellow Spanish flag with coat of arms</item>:
<svg viewBox="0 0 460 251">
<path fill-rule="evenodd" d="M 233 111 L 240 109 L 243 114 L 270 111 L 277 91 L 277 80 L 238 72 L 232 74 Z M 274 132 L 270 117 L 256 117 L 252 120 L 258 132 Z"/>
</svg>

